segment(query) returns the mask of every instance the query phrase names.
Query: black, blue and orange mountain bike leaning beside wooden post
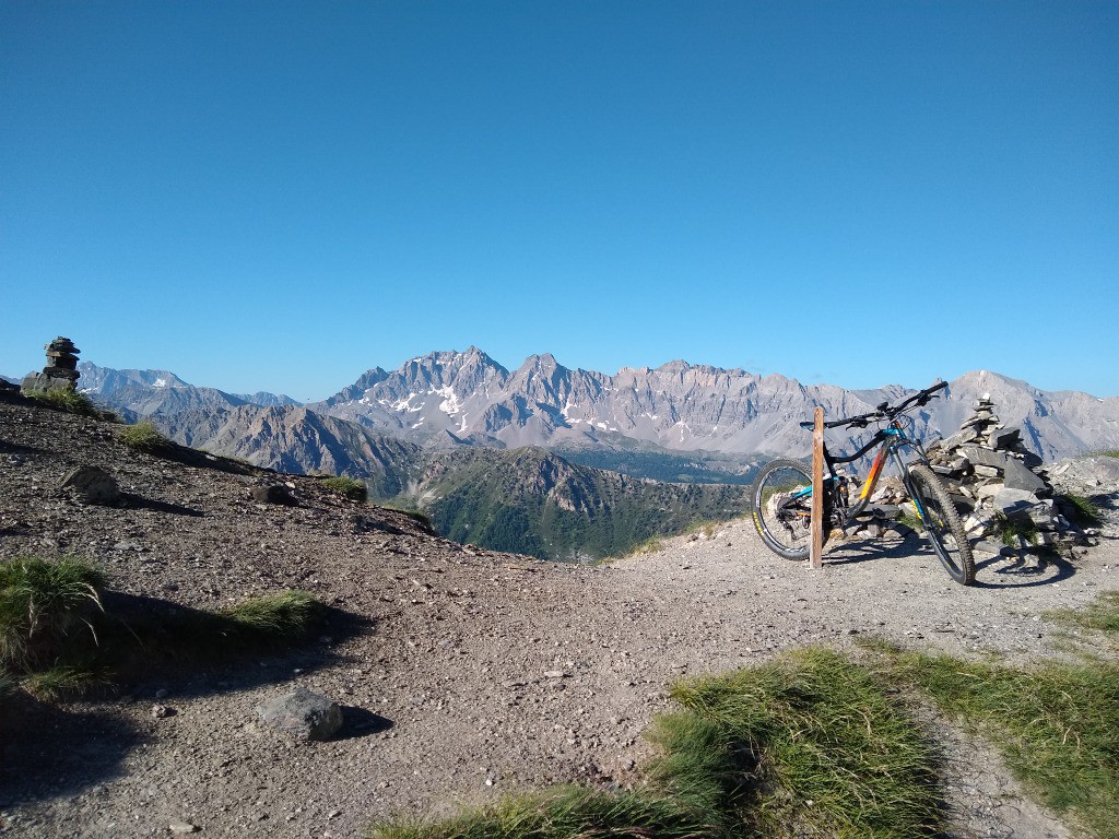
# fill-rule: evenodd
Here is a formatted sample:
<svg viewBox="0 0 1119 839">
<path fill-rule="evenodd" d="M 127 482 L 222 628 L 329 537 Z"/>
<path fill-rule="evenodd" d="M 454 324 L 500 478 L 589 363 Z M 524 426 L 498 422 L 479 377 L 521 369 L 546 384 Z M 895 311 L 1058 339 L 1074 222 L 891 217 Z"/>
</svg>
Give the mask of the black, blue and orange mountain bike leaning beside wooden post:
<svg viewBox="0 0 1119 839">
<path fill-rule="evenodd" d="M 824 539 L 827 540 L 834 529 L 846 529 L 856 524 L 856 519 L 865 519 L 875 512 L 871 507 L 871 496 L 888 459 L 901 475 L 937 558 L 952 579 L 961 585 L 971 585 L 976 577 L 971 545 L 951 496 L 930 468 L 921 441 L 912 433 L 914 421 L 906 414 L 938 398 L 934 394 L 946 387 L 948 383 L 940 381 L 897 405 L 882 403 L 868 414 L 824 424 L 825 428 L 865 428 L 872 423 L 883 424 L 866 445 L 849 456 L 837 458 L 825 445 Z M 800 426 L 812 428 L 814 423 L 800 423 Z M 878 451 L 871 472 L 858 498 L 852 503 L 855 481 L 838 472 L 836 465 L 856 461 L 875 446 Z M 811 544 L 812 477 L 809 468 L 800 461 L 784 459 L 765 464 L 758 473 L 751 498 L 754 526 L 765 546 L 788 559 L 806 558 Z"/>
</svg>

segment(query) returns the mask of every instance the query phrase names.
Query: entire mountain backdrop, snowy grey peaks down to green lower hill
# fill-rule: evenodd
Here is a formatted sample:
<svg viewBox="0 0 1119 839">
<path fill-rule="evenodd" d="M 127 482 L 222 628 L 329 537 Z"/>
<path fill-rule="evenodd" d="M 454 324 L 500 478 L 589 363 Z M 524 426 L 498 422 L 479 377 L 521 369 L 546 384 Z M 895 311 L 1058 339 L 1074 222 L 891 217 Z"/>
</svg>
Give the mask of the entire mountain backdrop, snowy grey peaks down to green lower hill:
<svg viewBox="0 0 1119 839">
<path fill-rule="evenodd" d="M 551 355 L 508 370 L 480 349 L 375 367 L 305 405 L 196 387 L 167 370 L 84 361 L 81 389 L 171 440 L 286 472 L 349 474 L 382 502 L 425 511 L 449 538 L 547 558 L 596 558 L 745 508 L 772 455 L 803 456 L 799 423 L 865 413 L 912 390 L 802 385 L 686 361 L 609 376 Z M 980 396 L 1044 460 L 1119 449 L 1119 398 L 1043 392 L 995 373 L 949 383 L 915 412 L 949 435 Z M 836 449 L 850 444 L 830 432 Z"/>
</svg>

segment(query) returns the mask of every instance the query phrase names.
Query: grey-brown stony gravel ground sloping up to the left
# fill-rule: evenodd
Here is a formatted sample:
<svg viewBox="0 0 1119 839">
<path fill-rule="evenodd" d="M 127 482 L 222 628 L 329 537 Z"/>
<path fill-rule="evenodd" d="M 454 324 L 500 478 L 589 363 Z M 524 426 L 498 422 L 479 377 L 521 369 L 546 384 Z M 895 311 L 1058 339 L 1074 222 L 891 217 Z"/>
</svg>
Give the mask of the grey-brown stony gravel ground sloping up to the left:
<svg viewBox="0 0 1119 839">
<path fill-rule="evenodd" d="M 747 520 L 609 565 L 549 565 L 429 536 L 313 478 L 140 454 L 116 433 L 0 400 L 0 557 L 76 554 L 103 564 L 116 591 L 200 607 L 303 588 L 349 619 L 298 654 L 152 670 L 109 700 L 20 701 L 0 720 L 3 835 L 149 837 L 175 824 L 356 837 L 378 818 L 526 785 L 626 784 L 681 677 L 871 634 L 1029 661 L 1064 649 L 1046 610 L 1119 588 L 1113 526 L 1069 558 L 985 556 L 970 588 L 914 537 L 831 545 L 812 572 L 769 553 Z M 83 464 L 110 471 L 122 501 L 59 490 Z M 1117 488 L 1076 469 L 1113 516 Z M 271 483 L 298 505 L 252 497 Z M 261 724 L 254 708 L 294 686 L 344 706 L 340 735 L 297 744 Z M 169 713 L 156 717 L 157 704 Z M 928 717 L 946 751 L 952 836 L 1070 836 L 980 744 Z"/>
</svg>

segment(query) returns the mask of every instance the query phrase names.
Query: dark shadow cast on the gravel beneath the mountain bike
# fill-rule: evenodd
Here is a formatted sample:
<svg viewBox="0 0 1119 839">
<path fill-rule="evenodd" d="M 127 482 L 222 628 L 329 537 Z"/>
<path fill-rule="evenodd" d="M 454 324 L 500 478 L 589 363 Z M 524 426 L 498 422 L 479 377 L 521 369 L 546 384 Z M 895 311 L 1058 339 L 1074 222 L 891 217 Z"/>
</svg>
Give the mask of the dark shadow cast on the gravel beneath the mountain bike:
<svg viewBox="0 0 1119 839">
<path fill-rule="evenodd" d="M 829 565 L 856 565 L 878 559 L 922 557 L 940 565 L 932 546 L 916 536 L 903 539 L 852 539 L 825 546 L 824 562 Z M 1055 550 L 1018 549 L 1008 554 L 985 555 L 976 559 L 977 588 L 1028 588 L 1063 583 L 1075 575 L 1075 566 Z M 991 576 L 996 578 L 990 579 Z"/>
</svg>

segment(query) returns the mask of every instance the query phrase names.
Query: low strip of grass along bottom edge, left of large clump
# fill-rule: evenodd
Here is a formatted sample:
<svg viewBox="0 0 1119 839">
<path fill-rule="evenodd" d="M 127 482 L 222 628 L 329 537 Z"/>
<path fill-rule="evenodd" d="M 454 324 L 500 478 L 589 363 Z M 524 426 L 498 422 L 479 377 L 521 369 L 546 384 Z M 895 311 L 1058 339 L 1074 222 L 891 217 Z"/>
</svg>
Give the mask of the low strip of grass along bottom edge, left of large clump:
<svg viewBox="0 0 1119 839">
<path fill-rule="evenodd" d="M 716 839 L 705 814 L 639 792 L 564 786 L 510 795 L 439 822 L 374 824 L 368 839 Z"/>
</svg>

